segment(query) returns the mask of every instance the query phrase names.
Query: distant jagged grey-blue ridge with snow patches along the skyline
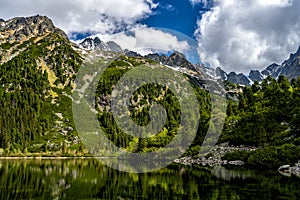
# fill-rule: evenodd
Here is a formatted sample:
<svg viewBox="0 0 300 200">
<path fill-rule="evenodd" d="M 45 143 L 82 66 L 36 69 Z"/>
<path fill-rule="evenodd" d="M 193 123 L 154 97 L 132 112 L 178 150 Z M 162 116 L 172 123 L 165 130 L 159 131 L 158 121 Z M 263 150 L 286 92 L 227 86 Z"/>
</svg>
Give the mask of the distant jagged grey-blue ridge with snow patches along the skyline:
<svg viewBox="0 0 300 200">
<path fill-rule="evenodd" d="M 142 56 L 137 52 L 131 50 L 124 50 L 115 42 L 109 41 L 107 43 L 101 41 L 98 37 L 86 38 L 83 42 L 79 44 L 80 47 L 89 50 L 104 50 L 112 52 L 124 52 L 126 56 L 129 57 L 144 57 L 151 59 L 166 66 L 173 67 L 173 69 L 183 69 L 183 72 L 187 72 L 194 76 L 208 77 L 210 79 L 222 79 L 229 82 L 233 82 L 239 85 L 252 85 L 255 81 L 261 82 L 268 76 L 273 78 L 278 78 L 280 75 L 286 76 L 288 79 L 297 78 L 300 76 L 300 47 L 296 53 L 291 54 L 289 59 L 285 60 L 281 65 L 273 63 L 266 67 L 264 70 L 251 70 L 248 75 L 243 73 L 230 72 L 226 73 L 221 68 L 208 68 L 202 64 L 194 65 L 190 63 L 184 54 L 180 52 L 172 52 L 170 55 L 162 53 L 150 53 L 148 55 Z"/>
</svg>

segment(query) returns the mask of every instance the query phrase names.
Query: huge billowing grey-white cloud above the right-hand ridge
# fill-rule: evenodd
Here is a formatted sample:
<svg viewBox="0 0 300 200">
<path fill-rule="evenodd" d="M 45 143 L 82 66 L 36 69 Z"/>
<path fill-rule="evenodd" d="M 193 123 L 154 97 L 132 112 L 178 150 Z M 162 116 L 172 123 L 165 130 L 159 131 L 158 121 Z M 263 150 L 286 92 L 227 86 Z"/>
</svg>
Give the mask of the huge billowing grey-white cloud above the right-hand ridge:
<svg viewBox="0 0 300 200">
<path fill-rule="evenodd" d="M 201 60 L 238 72 L 281 63 L 300 45 L 299 10 L 292 0 L 215 0 L 197 23 Z"/>
</svg>

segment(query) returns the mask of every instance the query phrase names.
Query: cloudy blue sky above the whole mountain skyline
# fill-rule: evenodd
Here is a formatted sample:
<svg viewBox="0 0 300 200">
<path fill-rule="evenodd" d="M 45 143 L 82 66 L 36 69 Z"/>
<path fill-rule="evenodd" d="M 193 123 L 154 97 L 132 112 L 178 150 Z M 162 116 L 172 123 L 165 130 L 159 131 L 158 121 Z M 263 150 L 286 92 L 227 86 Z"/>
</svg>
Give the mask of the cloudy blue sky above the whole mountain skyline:
<svg viewBox="0 0 300 200">
<path fill-rule="evenodd" d="M 299 0 L 1 0 L 0 18 L 46 15 L 73 41 L 194 52 L 207 66 L 248 73 L 296 52 L 299 11 Z"/>
</svg>

